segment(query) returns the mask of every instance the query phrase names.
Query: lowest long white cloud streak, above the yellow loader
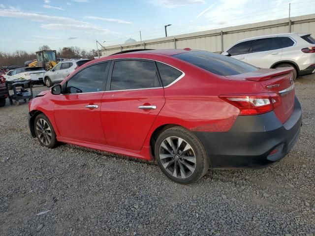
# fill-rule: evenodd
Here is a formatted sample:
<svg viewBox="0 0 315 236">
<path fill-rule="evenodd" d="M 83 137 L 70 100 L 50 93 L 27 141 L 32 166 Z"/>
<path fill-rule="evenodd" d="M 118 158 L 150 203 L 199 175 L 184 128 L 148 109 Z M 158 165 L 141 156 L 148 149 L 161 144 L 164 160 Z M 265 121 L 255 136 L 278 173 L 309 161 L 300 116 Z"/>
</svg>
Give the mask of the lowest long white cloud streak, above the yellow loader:
<svg viewBox="0 0 315 236">
<path fill-rule="evenodd" d="M 58 31 L 81 31 L 86 33 L 108 34 L 113 33 L 109 29 L 104 29 L 92 25 L 78 25 L 78 24 L 43 24 L 40 26 L 43 29 L 58 30 Z"/>
</svg>

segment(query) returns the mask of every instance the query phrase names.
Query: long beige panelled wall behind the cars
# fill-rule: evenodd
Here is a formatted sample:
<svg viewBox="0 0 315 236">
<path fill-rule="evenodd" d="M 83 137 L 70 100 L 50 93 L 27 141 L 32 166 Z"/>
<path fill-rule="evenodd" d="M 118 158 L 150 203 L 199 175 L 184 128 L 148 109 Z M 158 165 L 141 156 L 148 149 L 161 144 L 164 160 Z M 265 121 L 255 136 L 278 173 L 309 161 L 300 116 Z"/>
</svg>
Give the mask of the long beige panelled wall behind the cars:
<svg viewBox="0 0 315 236">
<path fill-rule="evenodd" d="M 288 19 L 285 18 L 242 26 L 212 29 L 164 38 L 150 39 L 142 41 L 142 43 L 135 42 L 113 45 L 103 48 L 101 50 L 101 55 L 104 57 L 124 50 L 141 48 L 191 48 L 221 53 L 222 49 L 225 50 L 229 48 L 238 40 L 267 34 L 286 33 L 289 32 L 289 27 L 291 27 L 291 32 L 312 33 L 313 37 L 315 37 L 315 14 L 292 17 L 291 24 L 289 24 Z"/>
</svg>

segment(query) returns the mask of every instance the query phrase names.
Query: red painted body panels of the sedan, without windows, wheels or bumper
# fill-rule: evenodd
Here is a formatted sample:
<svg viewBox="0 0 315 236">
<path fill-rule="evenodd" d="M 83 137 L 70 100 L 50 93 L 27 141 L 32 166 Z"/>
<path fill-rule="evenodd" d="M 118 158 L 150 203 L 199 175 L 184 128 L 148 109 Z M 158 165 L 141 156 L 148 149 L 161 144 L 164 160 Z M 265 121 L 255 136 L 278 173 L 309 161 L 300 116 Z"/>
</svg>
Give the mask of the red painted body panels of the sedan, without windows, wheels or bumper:
<svg viewBox="0 0 315 236">
<path fill-rule="evenodd" d="M 246 80 L 245 75 L 218 76 L 169 57 L 179 52 L 187 51 L 126 53 L 95 59 L 77 69 L 110 59 L 152 59 L 185 72 L 185 76 L 170 87 L 71 95 L 43 92 L 43 96 L 32 100 L 29 109 L 39 110 L 50 119 L 57 139 L 61 142 L 151 160 L 150 140 L 153 132 L 160 126 L 175 124 L 191 131 L 226 132 L 232 127 L 240 110 L 219 98 L 221 94 L 276 92 L 266 89 L 267 85 L 275 83 L 281 83 L 276 88 L 277 91 L 288 87 L 288 74 L 271 76 L 272 71 L 276 70 L 259 70 L 255 74 L 247 75 L 255 78 L 255 81 Z M 271 79 L 260 81 L 259 73 L 261 76 L 268 73 L 268 78 Z M 285 103 L 290 104 L 290 101 L 287 99 Z M 86 105 L 98 105 L 98 108 L 91 110 Z M 157 109 L 141 110 L 138 106 L 142 105 L 156 105 Z M 281 117 L 281 109 L 284 108 L 277 109 L 278 116 Z M 286 116 L 282 117 L 282 121 Z"/>
</svg>

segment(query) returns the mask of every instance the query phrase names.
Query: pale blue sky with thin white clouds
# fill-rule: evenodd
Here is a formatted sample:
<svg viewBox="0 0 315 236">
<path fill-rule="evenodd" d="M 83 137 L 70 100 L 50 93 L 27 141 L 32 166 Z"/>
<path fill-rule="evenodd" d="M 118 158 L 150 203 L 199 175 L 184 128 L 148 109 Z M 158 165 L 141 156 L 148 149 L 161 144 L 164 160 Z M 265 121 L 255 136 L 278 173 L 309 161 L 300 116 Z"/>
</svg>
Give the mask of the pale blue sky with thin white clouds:
<svg viewBox="0 0 315 236">
<path fill-rule="evenodd" d="M 96 49 L 133 38 L 182 33 L 315 13 L 314 0 L 0 0 L 0 52 L 42 45 Z"/>
</svg>

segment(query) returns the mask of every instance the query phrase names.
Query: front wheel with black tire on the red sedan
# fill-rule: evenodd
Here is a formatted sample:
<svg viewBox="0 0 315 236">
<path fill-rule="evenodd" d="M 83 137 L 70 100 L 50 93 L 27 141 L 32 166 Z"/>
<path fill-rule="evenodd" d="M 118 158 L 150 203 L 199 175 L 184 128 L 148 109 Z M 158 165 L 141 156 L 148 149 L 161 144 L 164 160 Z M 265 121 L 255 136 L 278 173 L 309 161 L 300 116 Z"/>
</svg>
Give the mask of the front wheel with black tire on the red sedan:
<svg viewBox="0 0 315 236">
<path fill-rule="evenodd" d="M 49 132 L 46 132 L 45 134 L 43 134 L 43 129 L 40 126 L 37 126 L 37 121 L 41 122 L 42 120 L 46 121 L 46 124 L 48 126 L 46 126 L 45 124 L 43 125 L 44 129 L 46 129 L 47 131 L 47 127 L 49 127 L 50 129 L 50 134 Z M 34 120 L 34 129 L 35 129 L 35 134 L 36 137 L 40 143 L 41 146 L 47 147 L 47 148 L 55 148 L 58 145 L 58 141 L 56 139 L 56 133 L 55 130 L 51 124 L 51 122 L 49 121 L 49 119 L 44 115 L 44 114 L 39 114 L 35 120 Z M 47 137 L 51 137 L 50 140 L 47 139 Z M 47 142 L 45 142 L 47 141 Z M 48 142 L 49 141 L 49 142 Z"/>
</svg>

